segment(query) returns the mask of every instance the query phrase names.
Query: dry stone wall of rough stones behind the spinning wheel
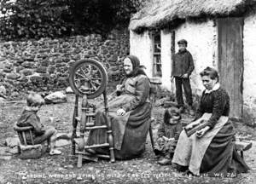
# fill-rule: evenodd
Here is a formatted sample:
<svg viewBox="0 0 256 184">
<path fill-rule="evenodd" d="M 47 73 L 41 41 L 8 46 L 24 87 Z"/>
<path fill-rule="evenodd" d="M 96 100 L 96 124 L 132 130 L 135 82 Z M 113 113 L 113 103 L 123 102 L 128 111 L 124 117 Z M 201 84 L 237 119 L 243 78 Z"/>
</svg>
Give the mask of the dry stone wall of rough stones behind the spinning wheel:
<svg viewBox="0 0 256 184">
<path fill-rule="evenodd" d="M 110 80 L 118 80 L 122 60 L 129 53 L 129 32 L 114 30 L 100 35 L 42 38 L 0 43 L 0 85 L 7 94 L 47 91 L 68 86 L 68 70 L 77 60 L 92 58 L 106 67 Z"/>
</svg>

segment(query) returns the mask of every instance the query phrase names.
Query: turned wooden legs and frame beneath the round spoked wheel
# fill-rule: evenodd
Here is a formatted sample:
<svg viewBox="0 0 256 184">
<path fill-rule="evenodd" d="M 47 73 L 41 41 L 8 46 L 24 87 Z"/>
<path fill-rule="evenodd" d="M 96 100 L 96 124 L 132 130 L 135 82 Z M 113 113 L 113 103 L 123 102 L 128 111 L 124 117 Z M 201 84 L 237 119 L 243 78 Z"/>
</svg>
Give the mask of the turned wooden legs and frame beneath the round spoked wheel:
<svg viewBox="0 0 256 184">
<path fill-rule="evenodd" d="M 79 119 L 78 103 L 79 95 L 75 96 L 75 107 L 73 112 L 73 135 L 72 135 L 72 150 L 73 154 L 78 155 L 78 167 L 82 166 L 83 158 L 87 160 L 97 161 L 98 158 L 110 158 L 110 162 L 114 162 L 114 152 L 113 152 L 113 134 L 111 129 L 111 122 L 108 118 L 108 99 L 106 91 L 103 92 L 104 105 L 105 105 L 105 115 L 106 115 L 106 125 L 96 126 L 95 125 L 95 111 L 89 106 L 87 95 L 83 96 L 82 100 L 82 112 L 81 118 Z M 77 125 L 80 123 L 80 135 L 77 137 Z M 86 146 L 84 141 L 85 130 L 90 129 L 107 129 L 108 142 L 102 144 L 96 144 L 91 146 Z M 76 150 L 76 144 L 78 149 Z M 96 147 L 109 147 L 109 155 L 102 154 L 90 154 L 86 152 L 86 149 L 96 148 Z"/>
</svg>

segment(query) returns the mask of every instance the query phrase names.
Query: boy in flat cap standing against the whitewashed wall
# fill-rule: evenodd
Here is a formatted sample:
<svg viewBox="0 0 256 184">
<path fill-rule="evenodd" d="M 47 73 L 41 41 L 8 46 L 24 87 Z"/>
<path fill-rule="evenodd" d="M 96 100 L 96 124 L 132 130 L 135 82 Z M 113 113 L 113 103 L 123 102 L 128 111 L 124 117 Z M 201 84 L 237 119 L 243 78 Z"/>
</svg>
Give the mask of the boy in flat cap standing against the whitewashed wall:
<svg viewBox="0 0 256 184">
<path fill-rule="evenodd" d="M 173 55 L 172 60 L 172 79 L 175 78 L 177 105 L 179 107 L 180 112 L 183 112 L 184 89 L 186 101 L 189 105 L 189 114 L 194 116 L 195 112 L 192 109 L 192 90 L 189 81 L 189 76 L 191 75 L 191 72 L 193 72 L 195 68 L 193 57 L 186 49 L 188 45 L 188 42 L 186 40 L 179 40 L 177 44 L 179 49 L 178 52 L 175 55 Z"/>
</svg>

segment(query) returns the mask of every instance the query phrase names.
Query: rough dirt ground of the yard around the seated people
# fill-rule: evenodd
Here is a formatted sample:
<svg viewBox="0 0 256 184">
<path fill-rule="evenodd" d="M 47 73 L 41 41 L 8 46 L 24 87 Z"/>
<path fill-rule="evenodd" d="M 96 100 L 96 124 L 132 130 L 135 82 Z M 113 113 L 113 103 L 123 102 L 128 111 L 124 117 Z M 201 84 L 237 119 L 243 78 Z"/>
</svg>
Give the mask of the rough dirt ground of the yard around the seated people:
<svg viewBox="0 0 256 184">
<path fill-rule="evenodd" d="M 55 126 L 60 132 L 72 131 L 74 95 L 68 95 L 67 103 L 45 105 L 39 112 L 44 124 Z M 15 136 L 13 125 L 19 117 L 26 101 L 9 101 L 0 108 L 0 141 Z M 162 121 L 164 108 L 154 108 L 154 135 Z M 183 115 L 183 122 L 191 117 Z M 244 152 L 244 157 L 251 168 L 247 174 L 235 178 L 210 178 L 183 176 L 172 166 L 160 166 L 149 141 L 146 152 L 141 158 L 109 163 L 84 161 L 82 168 L 77 168 L 77 158 L 71 152 L 71 145 L 61 147 L 61 156 L 44 154 L 42 158 L 22 160 L 18 155 L 9 160 L 0 159 L 0 183 L 256 183 L 256 132 L 255 129 L 234 123 L 236 135 L 242 140 L 253 141 L 253 147 Z"/>
</svg>

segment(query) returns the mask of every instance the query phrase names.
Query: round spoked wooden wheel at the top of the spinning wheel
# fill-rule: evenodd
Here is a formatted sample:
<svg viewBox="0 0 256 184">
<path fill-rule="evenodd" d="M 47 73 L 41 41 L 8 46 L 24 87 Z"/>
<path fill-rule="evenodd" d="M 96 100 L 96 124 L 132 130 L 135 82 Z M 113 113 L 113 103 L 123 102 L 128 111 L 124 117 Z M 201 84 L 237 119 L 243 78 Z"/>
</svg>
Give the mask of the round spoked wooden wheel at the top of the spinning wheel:
<svg viewBox="0 0 256 184">
<path fill-rule="evenodd" d="M 69 83 L 75 94 L 93 99 L 106 89 L 108 75 L 99 61 L 79 60 L 70 70 Z"/>
</svg>

